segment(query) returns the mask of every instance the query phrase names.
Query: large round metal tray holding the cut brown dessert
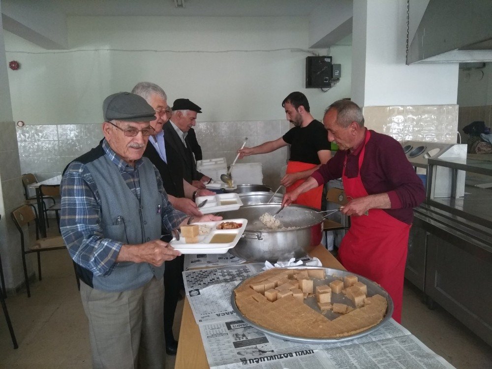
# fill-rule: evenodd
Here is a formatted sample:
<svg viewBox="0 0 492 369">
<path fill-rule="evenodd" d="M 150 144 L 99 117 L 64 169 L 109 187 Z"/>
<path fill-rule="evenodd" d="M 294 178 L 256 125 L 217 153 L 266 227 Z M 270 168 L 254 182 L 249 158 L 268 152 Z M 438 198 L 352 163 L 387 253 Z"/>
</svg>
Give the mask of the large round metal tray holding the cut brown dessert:
<svg viewBox="0 0 492 369">
<path fill-rule="evenodd" d="M 314 279 L 314 288 L 316 288 L 316 286 L 320 285 L 320 284 L 329 284 L 330 282 L 335 280 L 335 277 L 342 277 L 343 278 L 345 276 L 350 276 L 350 275 L 357 276 L 358 280 L 360 282 L 367 285 L 367 287 L 368 287 L 367 296 L 368 297 L 379 294 L 386 299 L 386 301 L 388 302 L 388 307 L 386 308 L 386 314 L 385 314 L 383 320 L 381 320 L 374 327 L 371 327 L 371 328 L 369 328 L 363 332 L 353 334 L 351 336 L 339 337 L 339 338 L 309 338 L 309 337 L 289 336 L 289 335 L 286 335 L 286 334 L 283 334 L 283 333 L 280 333 L 277 331 L 272 331 L 270 329 L 262 327 L 262 326 L 258 325 L 257 323 L 254 323 L 251 320 L 249 320 L 248 318 L 246 318 L 243 315 L 243 313 L 241 311 L 239 311 L 238 307 L 236 306 L 236 299 L 235 299 L 236 294 L 233 291 L 231 294 L 231 305 L 232 305 L 232 308 L 234 309 L 234 312 L 241 319 L 243 319 L 246 323 L 248 323 L 250 326 L 256 328 L 257 330 L 259 330 L 261 332 L 275 336 L 277 338 L 288 339 L 288 340 L 295 341 L 295 342 L 310 343 L 310 344 L 333 343 L 333 342 L 348 341 L 348 340 L 352 340 L 355 338 L 360 338 L 362 336 L 368 335 L 369 333 L 374 332 L 375 330 L 379 329 L 382 325 L 384 325 L 388 320 L 391 319 L 391 315 L 393 314 L 393 300 L 391 299 L 390 295 L 388 294 L 388 292 L 386 292 L 385 289 L 383 289 L 380 285 L 378 285 L 377 283 L 373 282 L 372 280 L 370 280 L 366 277 L 362 277 L 362 276 L 355 274 L 355 273 L 350 273 L 347 271 L 343 271 L 343 270 L 339 270 L 339 269 L 332 269 L 332 268 L 298 266 L 298 267 L 288 267 L 285 269 L 324 269 L 326 278 L 324 280 Z M 262 273 L 262 272 L 260 272 L 260 273 Z M 254 276 L 257 276 L 260 273 L 257 273 Z M 251 276 L 251 277 L 254 277 L 254 276 Z M 242 285 L 244 282 L 245 281 L 243 280 L 241 283 L 238 284 L 237 287 Z M 304 302 L 309 307 L 320 312 L 320 310 L 316 304 L 316 299 L 312 299 L 312 298 L 311 299 L 305 299 Z M 332 293 L 332 303 L 342 303 L 342 304 L 346 304 L 346 305 L 349 305 L 351 307 L 354 307 L 354 304 L 352 303 L 352 301 L 349 298 L 345 297 L 345 295 L 343 295 L 342 293 L 339 293 L 339 294 Z M 330 320 L 335 319 L 339 315 L 340 314 L 334 313 L 333 311 L 329 311 L 328 313 L 325 314 L 325 316 Z M 308 327 L 306 327 L 306 329 L 308 330 Z"/>
</svg>

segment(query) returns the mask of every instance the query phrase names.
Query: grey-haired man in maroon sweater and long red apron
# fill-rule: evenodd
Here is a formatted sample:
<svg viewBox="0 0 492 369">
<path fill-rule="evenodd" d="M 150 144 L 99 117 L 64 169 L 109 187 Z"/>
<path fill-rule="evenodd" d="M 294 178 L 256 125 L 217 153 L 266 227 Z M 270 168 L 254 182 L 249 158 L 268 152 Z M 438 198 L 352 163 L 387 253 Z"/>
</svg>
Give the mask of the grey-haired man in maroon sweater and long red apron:
<svg viewBox="0 0 492 369">
<path fill-rule="evenodd" d="M 395 139 L 364 127 L 357 104 L 334 102 L 323 124 L 339 150 L 305 183 L 286 193 L 283 204 L 319 184 L 342 178 L 351 200 L 341 212 L 352 217 L 338 257 L 348 271 L 388 291 L 395 305 L 393 318 L 400 323 L 408 234 L 413 208 L 426 196 L 424 185 Z"/>
</svg>

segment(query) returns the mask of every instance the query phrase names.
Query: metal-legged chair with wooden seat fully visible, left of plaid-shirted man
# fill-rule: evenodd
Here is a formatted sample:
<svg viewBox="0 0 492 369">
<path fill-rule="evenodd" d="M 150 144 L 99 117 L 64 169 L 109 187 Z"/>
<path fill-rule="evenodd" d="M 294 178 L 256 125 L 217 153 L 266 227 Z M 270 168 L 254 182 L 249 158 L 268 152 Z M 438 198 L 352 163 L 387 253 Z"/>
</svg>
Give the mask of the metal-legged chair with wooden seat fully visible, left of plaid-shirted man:
<svg viewBox="0 0 492 369">
<path fill-rule="evenodd" d="M 41 239 L 39 238 L 38 219 L 37 216 L 34 214 L 34 211 L 29 205 L 23 205 L 20 208 L 17 208 L 11 213 L 11 216 L 12 216 L 12 220 L 15 223 L 15 226 L 17 227 L 21 235 L 21 253 L 22 253 L 22 265 L 24 267 L 24 278 L 26 281 L 28 297 L 31 297 L 31 290 L 29 288 L 28 270 L 26 266 L 26 254 L 33 253 L 33 252 L 37 253 L 38 277 L 39 280 L 41 280 L 42 279 L 41 258 L 40 258 L 41 251 L 65 249 L 65 244 L 63 242 L 62 236 L 45 237 Z M 34 221 L 36 224 L 36 241 L 34 241 L 31 244 L 31 246 L 27 246 L 22 227 L 24 227 L 31 221 Z"/>
</svg>

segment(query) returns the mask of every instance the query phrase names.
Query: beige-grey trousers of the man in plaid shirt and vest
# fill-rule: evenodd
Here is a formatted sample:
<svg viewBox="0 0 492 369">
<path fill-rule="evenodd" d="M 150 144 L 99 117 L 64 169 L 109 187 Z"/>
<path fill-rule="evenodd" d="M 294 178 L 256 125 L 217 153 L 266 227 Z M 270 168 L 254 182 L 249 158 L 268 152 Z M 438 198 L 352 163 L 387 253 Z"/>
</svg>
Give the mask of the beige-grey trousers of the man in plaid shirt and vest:
<svg viewBox="0 0 492 369">
<path fill-rule="evenodd" d="M 94 369 L 164 368 L 162 279 L 153 277 L 124 292 L 99 291 L 81 281 L 80 295 L 89 319 Z"/>
</svg>

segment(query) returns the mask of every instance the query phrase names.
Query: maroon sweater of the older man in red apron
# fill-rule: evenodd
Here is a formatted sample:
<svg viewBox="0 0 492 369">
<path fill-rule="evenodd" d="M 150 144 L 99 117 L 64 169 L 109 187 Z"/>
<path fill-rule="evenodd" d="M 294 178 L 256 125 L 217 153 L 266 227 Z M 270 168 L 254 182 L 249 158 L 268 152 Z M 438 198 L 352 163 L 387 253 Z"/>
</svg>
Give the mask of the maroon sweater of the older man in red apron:
<svg viewBox="0 0 492 369">
<path fill-rule="evenodd" d="M 367 134 L 367 131 L 366 131 Z M 345 175 L 357 177 L 359 173 L 359 154 L 364 142 L 353 153 L 339 150 L 326 164 L 312 174 L 318 184 L 341 178 L 343 162 L 347 157 Z M 400 143 L 385 134 L 370 131 L 366 153 L 361 167 L 361 180 L 369 195 L 387 192 L 391 209 L 383 209 L 389 215 L 411 224 L 412 208 L 420 205 L 426 198 L 426 190 L 421 179 L 403 153 Z"/>
</svg>

